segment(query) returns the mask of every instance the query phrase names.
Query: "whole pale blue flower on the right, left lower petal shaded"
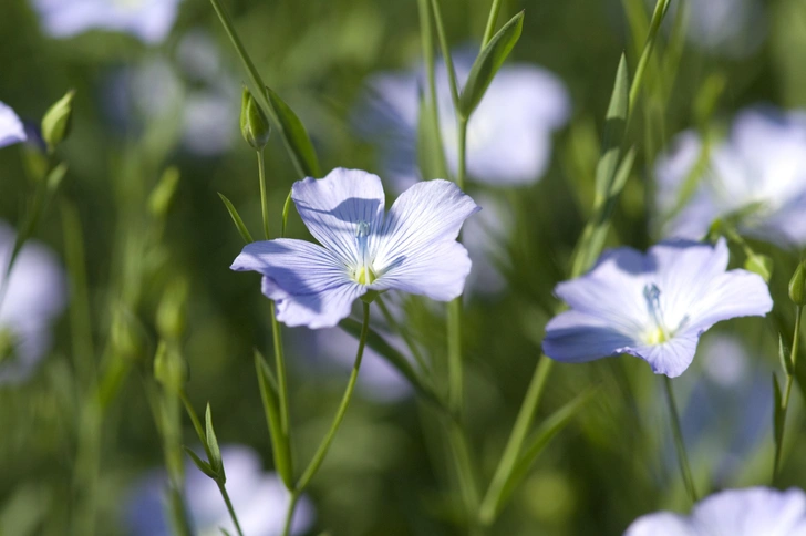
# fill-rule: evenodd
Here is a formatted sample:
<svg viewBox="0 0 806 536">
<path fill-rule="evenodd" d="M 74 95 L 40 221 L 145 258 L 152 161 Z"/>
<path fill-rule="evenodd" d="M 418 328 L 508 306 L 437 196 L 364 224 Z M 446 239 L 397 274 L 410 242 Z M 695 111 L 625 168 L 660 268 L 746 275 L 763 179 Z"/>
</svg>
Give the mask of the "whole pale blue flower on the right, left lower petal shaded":
<svg viewBox="0 0 806 536">
<path fill-rule="evenodd" d="M 724 239 L 713 247 L 666 241 L 645 255 L 632 248 L 606 252 L 589 274 L 555 289 L 571 310 L 546 327 L 546 355 L 579 363 L 629 353 L 655 374 L 679 377 L 713 324 L 773 308 L 764 280 L 727 271 L 727 260 Z"/>
</svg>

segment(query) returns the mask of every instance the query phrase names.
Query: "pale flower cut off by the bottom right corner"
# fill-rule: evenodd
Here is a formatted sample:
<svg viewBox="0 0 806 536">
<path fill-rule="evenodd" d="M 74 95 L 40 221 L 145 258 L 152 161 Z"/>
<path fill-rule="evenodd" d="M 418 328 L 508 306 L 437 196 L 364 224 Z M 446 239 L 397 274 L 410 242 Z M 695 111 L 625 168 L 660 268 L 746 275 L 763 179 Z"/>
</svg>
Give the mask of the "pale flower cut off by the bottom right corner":
<svg viewBox="0 0 806 536">
<path fill-rule="evenodd" d="M 790 488 L 727 489 L 704 498 L 691 516 L 639 517 L 624 536 L 806 536 L 806 494 Z"/>
</svg>

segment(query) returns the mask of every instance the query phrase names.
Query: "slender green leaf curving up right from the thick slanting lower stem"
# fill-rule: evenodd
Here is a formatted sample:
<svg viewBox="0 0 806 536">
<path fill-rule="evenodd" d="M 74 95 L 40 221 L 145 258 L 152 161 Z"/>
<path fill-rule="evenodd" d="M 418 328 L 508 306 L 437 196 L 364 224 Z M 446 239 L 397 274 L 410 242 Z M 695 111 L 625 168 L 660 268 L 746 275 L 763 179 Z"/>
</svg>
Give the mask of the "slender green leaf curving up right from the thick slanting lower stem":
<svg viewBox="0 0 806 536">
<path fill-rule="evenodd" d="M 562 429 L 565 429 L 569 422 L 571 422 L 571 419 L 574 419 L 577 413 L 579 413 L 585 404 L 587 404 L 588 401 L 593 398 L 597 392 L 598 389 L 592 389 L 587 393 L 578 395 L 576 399 L 571 400 L 566 405 L 552 413 L 537 429 L 531 437 L 530 443 L 524 451 L 524 454 L 520 456 L 520 460 L 518 461 L 518 463 L 515 464 L 515 466 L 513 466 L 513 471 L 512 473 L 509 473 L 506 484 L 502 488 L 500 495 L 495 502 L 496 517 L 497 514 L 500 513 L 502 507 L 512 496 L 513 491 L 515 491 L 518 484 L 528 474 L 529 470 L 531 468 L 531 464 L 535 463 L 535 460 L 537 460 L 540 453 L 542 453 L 548 443 L 560 431 L 562 431 Z"/>
</svg>

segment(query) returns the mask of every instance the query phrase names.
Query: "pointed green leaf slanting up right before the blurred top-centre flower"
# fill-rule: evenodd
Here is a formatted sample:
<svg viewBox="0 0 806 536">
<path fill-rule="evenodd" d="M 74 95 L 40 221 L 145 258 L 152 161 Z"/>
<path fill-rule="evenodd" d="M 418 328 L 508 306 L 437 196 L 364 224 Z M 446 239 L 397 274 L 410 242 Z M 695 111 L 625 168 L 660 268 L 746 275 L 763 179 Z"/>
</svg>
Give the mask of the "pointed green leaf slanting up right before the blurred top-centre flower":
<svg viewBox="0 0 806 536">
<path fill-rule="evenodd" d="M 458 113 L 463 117 L 471 116 L 478 103 L 482 102 L 487 87 L 495 78 L 498 69 L 500 69 L 504 60 L 507 59 L 509 52 L 520 38 L 524 29 L 524 12 L 519 12 L 509 22 L 498 30 L 487 47 L 482 50 L 473 63 L 471 74 L 467 76 L 467 83 L 462 91 L 459 97 Z"/>
</svg>

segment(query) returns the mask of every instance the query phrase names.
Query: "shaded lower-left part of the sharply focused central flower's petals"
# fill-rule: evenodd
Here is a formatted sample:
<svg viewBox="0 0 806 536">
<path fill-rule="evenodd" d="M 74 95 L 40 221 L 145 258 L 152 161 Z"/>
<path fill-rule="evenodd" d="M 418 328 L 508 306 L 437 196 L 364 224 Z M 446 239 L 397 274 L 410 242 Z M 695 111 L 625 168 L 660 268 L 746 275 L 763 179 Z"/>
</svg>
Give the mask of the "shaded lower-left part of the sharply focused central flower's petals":
<svg viewBox="0 0 806 536">
<path fill-rule="evenodd" d="M 290 327 L 332 328 L 366 291 L 333 252 L 304 240 L 249 244 L 231 269 L 262 274 L 264 293 L 277 302 L 277 319 Z"/>
</svg>

